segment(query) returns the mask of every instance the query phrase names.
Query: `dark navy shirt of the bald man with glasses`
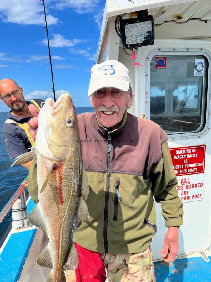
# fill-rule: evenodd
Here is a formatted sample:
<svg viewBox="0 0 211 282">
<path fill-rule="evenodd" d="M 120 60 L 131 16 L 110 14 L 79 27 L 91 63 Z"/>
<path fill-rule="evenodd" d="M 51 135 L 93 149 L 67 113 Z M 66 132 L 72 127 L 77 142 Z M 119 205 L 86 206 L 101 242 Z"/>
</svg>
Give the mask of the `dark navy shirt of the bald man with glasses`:
<svg viewBox="0 0 211 282">
<path fill-rule="evenodd" d="M 41 99 L 34 99 L 34 101 L 37 102 L 39 106 L 43 102 Z M 26 101 L 26 103 L 28 105 L 33 104 L 31 101 Z M 11 111 L 8 113 L 8 118 L 13 119 L 17 123 L 28 123 L 31 119 L 30 117 L 17 118 L 11 114 Z M 15 159 L 21 154 L 30 151 L 28 148 L 32 147 L 25 131 L 14 123 L 3 124 L 2 137 L 10 159 Z"/>
</svg>

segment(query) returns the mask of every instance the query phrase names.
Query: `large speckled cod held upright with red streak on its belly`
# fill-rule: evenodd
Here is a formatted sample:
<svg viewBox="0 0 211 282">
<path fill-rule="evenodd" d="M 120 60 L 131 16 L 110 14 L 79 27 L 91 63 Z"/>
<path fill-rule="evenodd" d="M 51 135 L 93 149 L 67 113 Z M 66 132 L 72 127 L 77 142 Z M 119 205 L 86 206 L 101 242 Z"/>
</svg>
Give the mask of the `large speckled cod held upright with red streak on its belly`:
<svg viewBox="0 0 211 282">
<path fill-rule="evenodd" d="M 49 239 L 37 264 L 52 268 L 47 281 L 65 281 L 64 270 L 76 269 L 78 254 L 73 232 L 88 220 L 88 180 L 83 169 L 78 122 L 70 95 L 55 103 L 47 99 L 38 117 L 36 149 L 18 157 L 16 164 L 37 156 L 38 199 L 29 221 Z"/>
</svg>

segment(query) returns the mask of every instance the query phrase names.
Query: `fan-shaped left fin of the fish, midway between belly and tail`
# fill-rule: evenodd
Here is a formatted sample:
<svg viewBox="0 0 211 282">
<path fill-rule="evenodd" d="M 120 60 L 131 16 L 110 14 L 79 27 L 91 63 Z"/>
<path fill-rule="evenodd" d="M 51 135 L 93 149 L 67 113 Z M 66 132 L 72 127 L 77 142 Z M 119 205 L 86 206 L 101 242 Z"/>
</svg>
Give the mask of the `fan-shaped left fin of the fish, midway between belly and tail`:
<svg viewBox="0 0 211 282">
<path fill-rule="evenodd" d="M 37 206 L 35 206 L 35 208 L 33 208 L 32 212 L 29 215 L 29 221 L 41 228 L 45 234 L 45 236 L 48 238 L 48 230 L 41 212 L 41 208 L 40 208 L 40 202 L 38 202 Z"/>
</svg>

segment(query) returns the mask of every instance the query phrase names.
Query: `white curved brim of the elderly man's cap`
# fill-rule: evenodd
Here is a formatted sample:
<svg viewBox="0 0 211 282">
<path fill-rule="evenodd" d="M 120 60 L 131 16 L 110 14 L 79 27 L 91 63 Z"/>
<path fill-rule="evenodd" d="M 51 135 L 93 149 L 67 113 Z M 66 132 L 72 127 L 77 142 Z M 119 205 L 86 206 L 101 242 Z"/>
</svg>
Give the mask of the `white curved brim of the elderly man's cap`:
<svg viewBox="0 0 211 282">
<path fill-rule="evenodd" d="M 129 81 L 111 77 L 98 79 L 89 85 L 88 96 L 91 96 L 96 91 L 106 87 L 112 87 L 126 92 L 129 90 Z"/>
</svg>

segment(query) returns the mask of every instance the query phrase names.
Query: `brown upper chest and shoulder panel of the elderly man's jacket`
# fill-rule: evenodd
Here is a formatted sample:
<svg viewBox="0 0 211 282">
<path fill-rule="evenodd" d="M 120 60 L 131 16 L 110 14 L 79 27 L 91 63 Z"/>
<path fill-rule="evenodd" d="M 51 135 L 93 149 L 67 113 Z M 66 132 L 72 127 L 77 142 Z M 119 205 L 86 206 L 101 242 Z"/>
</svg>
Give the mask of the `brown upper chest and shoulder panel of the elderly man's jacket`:
<svg viewBox="0 0 211 282">
<path fill-rule="evenodd" d="M 100 132 L 94 113 L 78 115 L 82 159 L 87 171 L 107 171 L 108 139 Z M 167 139 L 154 122 L 128 114 L 117 134 L 111 134 L 111 172 L 148 178 L 161 157 L 161 144 Z"/>
</svg>

